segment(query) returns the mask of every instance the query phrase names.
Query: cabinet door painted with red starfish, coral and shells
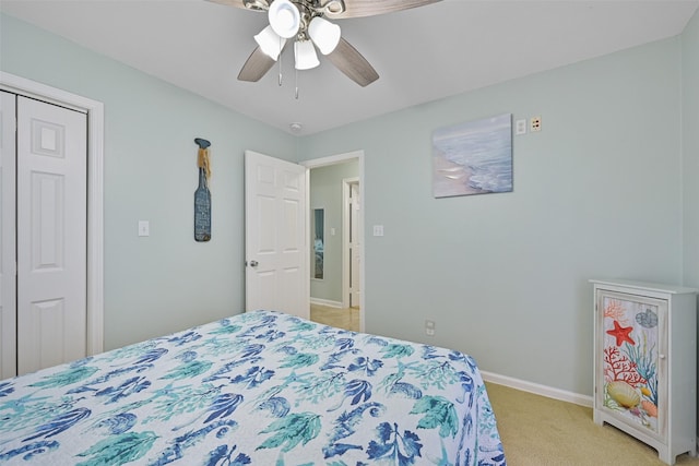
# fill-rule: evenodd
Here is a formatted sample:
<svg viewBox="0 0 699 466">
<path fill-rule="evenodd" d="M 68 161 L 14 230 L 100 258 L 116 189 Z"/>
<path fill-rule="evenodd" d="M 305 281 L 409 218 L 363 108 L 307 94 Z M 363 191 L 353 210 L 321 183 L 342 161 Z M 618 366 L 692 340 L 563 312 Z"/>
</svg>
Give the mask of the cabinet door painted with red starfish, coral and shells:
<svg viewBox="0 0 699 466">
<path fill-rule="evenodd" d="M 663 440 L 667 406 L 667 301 L 599 290 L 595 404 Z"/>
</svg>

